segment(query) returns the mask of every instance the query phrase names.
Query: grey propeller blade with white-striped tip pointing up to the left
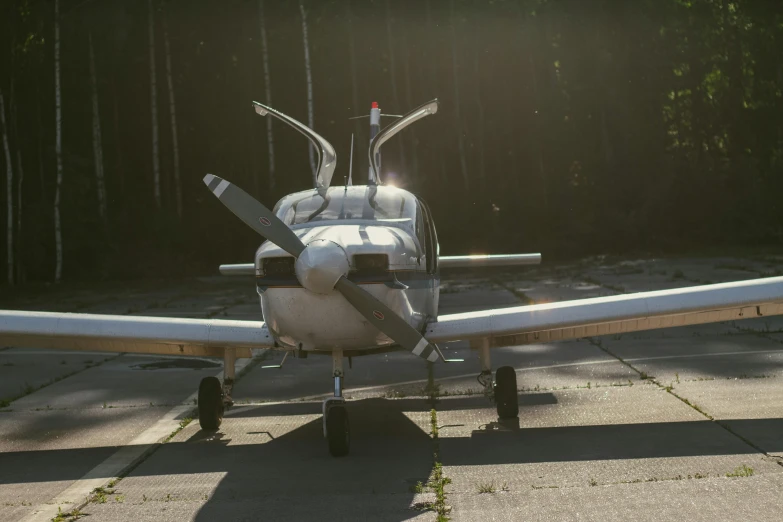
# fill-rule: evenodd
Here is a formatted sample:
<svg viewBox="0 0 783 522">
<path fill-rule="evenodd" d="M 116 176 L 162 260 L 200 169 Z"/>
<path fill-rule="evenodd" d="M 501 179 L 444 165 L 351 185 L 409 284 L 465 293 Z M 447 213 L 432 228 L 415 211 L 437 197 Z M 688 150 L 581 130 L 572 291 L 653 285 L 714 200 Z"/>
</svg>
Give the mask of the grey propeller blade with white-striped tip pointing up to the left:
<svg viewBox="0 0 783 522">
<path fill-rule="evenodd" d="M 231 212 L 250 228 L 294 257 L 299 257 L 305 246 L 294 231 L 280 221 L 271 210 L 253 196 L 223 178 L 207 174 L 204 183 Z"/>
</svg>

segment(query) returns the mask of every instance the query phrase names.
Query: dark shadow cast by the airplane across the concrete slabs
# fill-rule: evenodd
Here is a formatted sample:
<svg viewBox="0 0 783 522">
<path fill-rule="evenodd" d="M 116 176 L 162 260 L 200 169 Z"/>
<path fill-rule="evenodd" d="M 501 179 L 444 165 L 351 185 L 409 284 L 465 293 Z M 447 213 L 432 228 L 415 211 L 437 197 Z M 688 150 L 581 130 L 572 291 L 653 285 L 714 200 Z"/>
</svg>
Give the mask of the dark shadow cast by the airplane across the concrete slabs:
<svg viewBox="0 0 783 522">
<path fill-rule="evenodd" d="M 437 408 L 456 412 L 490 407 L 486 401 L 484 397 L 450 398 L 438 401 Z M 455 429 L 456 426 L 470 429 L 470 436 L 451 437 L 451 428 L 441 426 L 441 461 L 446 466 L 457 466 L 756 453 L 738 437 L 708 420 L 524 427 L 529 422 L 525 415 L 532 414 L 525 411 L 525 406 L 553 401 L 554 396 L 547 393 L 522 394 L 521 428 L 507 422 L 457 424 Z M 344 516 L 351 502 L 364 502 L 364 508 L 355 508 L 357 518 L 364 516 L 362 509 L 367 517 L 379 520 L 414 517 L 416 511 L 409 508 L 414 500 L 413 488 L 418 481 L 426 483 L 432 471 L 433 442 L 428 433 L 432 402 L 425 398 L 372 398 L 352 401 L 348 407 L 352 447 L 347 457 L 336 459 L 328 454 L 320 416 L 273 436 L 272 432 L 281 431 L 275 429 L 275 423 L 285 422 L 285 416 L 318 415 L 320 404 L 277 403 L 236 408 L 224 419 L 222 430 L 199 431 L 184 442 L 161 446 L 129 474 L 126 486 L 130 486 L 131 479 L 180 475 L 181 478 L 170 479 L 171 488 L 187 491 L 189 485 L 198 484 L 198 476 L 221 474 L 209 500 L 198 508 L 196 520 L 224 516 L 227 502 L 231 503 L 231 516 L 240 518 L 245 515 L 252 518 L 263 508 L 268 515 L 288 514 L 292 519 L 297 514 L 306 518 L 317 509 L 328 519 Z M 418 422 L 406 413 L 417 415 Z M 470 415 L 466 420 L 470 422 Z M 233 427 L 232 423 L 235 423 Z M 236 429 L 237 424 L 241 425 L 240 430 Z M 783 432 L 783 418 L 738 419 L 726 424 L 748 440 L 779 440 Z M 0 454 L 0 484 L 76 480 L 88 471 L 83 463 L 94 466 L 116 449 L 3 453 Z M 155 482 L 160 484 L 161 480 Z M 297 498 L 306 498 L 307 502 L 298 505 Z M 343 501 L 335 502 L 336 498 Z M 369 504 L 368 498 L 373 499 Z"/>
</svg>

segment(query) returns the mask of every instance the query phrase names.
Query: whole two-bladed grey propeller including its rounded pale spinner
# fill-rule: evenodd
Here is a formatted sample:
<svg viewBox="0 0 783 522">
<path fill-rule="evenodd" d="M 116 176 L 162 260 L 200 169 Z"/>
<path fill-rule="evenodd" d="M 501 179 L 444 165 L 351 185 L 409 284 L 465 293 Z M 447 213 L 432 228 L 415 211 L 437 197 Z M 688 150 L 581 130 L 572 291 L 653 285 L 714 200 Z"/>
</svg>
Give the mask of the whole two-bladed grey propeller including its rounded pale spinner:
<svg viewBox="0 0 783 522">
<path fill-rule="evenodd" d="M 405 319 L 348 280 L 348 258 L 340 245 L 327 240 L 305 245 L 268 208 L 233 183 L 212 174 L 204 177 L 204 183 L 239 219 L 296 259 L 296 276 L 303 287 L 322 294 L 337 290 L 370 324 L 395 343 L 430 362 L 443 358 L 438 347 Z"/>
</svg>

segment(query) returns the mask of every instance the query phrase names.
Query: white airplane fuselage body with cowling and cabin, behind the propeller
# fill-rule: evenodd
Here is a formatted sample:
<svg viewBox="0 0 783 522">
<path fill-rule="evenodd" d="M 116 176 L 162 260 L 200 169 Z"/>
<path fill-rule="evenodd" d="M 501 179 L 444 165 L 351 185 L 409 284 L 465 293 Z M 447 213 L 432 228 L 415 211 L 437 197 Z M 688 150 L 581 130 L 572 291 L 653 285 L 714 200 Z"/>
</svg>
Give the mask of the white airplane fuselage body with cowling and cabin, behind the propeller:
<svg viewBox="0 0 783 522">
<path fill-rule="evenodd" d="M 417 330 L 436 318 L 437 240 L 426 205 L 385 186 L 332 187 L 286 196 L 275 214 L 309 245 L 340 247 L 347 278 Z M 269 331 L 282 347 L 346 354 L 388 348 L 394 342 L 339 292 L 302 286 L 293 257 L 267 241 L 255 255 L 256 286 Z"/>
</svg>

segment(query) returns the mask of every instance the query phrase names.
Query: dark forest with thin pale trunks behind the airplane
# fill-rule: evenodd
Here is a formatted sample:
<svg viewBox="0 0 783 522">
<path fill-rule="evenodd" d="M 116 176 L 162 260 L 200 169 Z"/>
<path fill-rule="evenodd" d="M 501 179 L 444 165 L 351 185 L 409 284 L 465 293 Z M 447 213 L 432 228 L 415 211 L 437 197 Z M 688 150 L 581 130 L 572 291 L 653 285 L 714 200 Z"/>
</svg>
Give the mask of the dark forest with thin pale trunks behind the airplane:
<svg viewBox="0 0 783 522">
<path fill-rule="evenodd" d="M 270 206 L 311 186 L 306 140 L 275 121 L 270 148 L 251 100 L 312 119 L 338 151 L 339 184 L 351 133 L 355 179 L 367 172 L 367 121 L 348 118 L 439 98 L 384 147 L 383 177 L 429 202 L 444 253 L 783 238 L 776 1 L 0 5 L 3 281 L 55 279 L 56 199 L 64 279 L 251 260 L 259 238 L 204 174 Z"/>
</svg>

